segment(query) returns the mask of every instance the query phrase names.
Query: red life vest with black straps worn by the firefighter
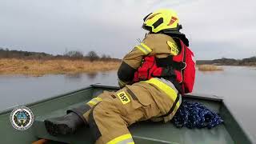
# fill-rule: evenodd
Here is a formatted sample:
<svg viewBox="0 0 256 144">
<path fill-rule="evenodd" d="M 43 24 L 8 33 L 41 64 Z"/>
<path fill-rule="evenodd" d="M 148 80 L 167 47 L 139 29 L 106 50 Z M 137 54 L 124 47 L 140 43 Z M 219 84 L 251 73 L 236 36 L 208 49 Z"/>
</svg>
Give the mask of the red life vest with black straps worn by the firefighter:
<svg viewBox="0 0 256 144">
<path fill-rule="evenodd" d="M 146 56 L 142 66 L 134 73 L 134 82 L 145 81 L 150 78 L 172 78 L 174 86 L 181 94 L 190 93 L 194 87 L 195 61 L 194 54 L 182 40 L 181 51 L 178 55 L 167 58 Z"/>
</svg>

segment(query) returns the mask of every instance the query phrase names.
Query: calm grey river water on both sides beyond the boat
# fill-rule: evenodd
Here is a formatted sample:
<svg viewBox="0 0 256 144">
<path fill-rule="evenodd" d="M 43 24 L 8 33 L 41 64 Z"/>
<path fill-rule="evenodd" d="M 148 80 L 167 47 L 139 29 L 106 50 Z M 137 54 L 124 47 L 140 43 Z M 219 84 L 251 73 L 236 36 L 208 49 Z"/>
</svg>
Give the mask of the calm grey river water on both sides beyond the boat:
<svg viewBox="0 0 256 144">
<path fill-rule="evenodd" d="M 223 66 L 223 68 L 223 71 L 197 71 L 194 93 L 214 94 L 224 98 L 238 121 L 242 122 L 242 126 L 249 130 L 255 140 L 256 68 L 243 66 Z M 50 98 L 90 84 L 117 86 L 116 79 L 116 71 L 43 77 L 2 75 L 0 76 L 0 110 Z"/>
</svg>

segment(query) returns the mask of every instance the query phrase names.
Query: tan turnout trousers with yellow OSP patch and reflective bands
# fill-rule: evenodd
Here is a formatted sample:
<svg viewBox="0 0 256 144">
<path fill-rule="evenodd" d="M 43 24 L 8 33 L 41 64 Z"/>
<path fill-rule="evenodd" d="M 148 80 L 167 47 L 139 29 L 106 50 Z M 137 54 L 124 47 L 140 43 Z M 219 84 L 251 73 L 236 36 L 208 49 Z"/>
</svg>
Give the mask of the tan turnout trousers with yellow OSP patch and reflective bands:
<svg viewBox="0 0 256 144">
<path fill-rule="evenodd" d="M 149 119 L 168 122 L 180 104 L 181 97 L 172 83 L 151 78 L 117 92 L 104 91 L 71 111 L 90 126 L 96 144 L 133 144 L 127 126 Z"/>
</svg>

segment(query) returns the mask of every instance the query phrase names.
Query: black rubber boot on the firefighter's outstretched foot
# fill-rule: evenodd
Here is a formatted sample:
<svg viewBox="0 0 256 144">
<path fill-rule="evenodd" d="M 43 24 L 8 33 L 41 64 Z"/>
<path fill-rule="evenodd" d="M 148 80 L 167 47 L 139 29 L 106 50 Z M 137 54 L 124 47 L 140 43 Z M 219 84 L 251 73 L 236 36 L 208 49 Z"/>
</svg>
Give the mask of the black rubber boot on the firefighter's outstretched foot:
<svg viewBox="0 0 256 144">
<path fill-rule="evenodd" d="M 82 118 L 74 112 L 70 112 L 69 114 L 58 118 L 49 118 L 44 122 L 48 133 L 54 136 L 74 134 L 79 127 L 85 125 Z"/>
</svg>

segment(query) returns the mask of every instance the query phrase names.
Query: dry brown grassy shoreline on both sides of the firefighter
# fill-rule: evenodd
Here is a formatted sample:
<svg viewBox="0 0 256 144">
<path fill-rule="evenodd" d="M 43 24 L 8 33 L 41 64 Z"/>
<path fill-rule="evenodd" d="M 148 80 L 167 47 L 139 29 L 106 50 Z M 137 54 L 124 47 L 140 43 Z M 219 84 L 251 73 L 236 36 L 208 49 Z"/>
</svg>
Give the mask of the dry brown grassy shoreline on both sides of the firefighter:
<svg viewBox="0 0 256 144">
<path fill-rule="evenodd" d="M 40 77 L 54 74 L 90 74 L 118 70 L 121 60 L 0 58 L 0 76 Z M 200 71 L 222 71 L 221 64 L 198 64 Z M 242 66 L 242 65 L 238 65 Z M 246 66 L 246 65 L 245 65 Z M 246 66 L 256 67 L 256 66 Z"/>
</svg>

